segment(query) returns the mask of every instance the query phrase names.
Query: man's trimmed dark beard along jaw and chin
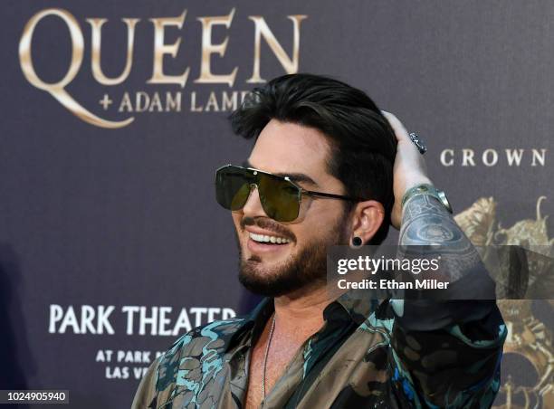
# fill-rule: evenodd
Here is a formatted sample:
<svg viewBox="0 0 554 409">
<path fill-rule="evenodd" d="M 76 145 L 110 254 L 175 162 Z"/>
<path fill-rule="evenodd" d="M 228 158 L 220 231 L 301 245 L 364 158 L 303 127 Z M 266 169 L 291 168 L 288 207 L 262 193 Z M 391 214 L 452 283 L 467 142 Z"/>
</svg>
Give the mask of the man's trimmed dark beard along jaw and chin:
<svg viewBox="0 0 554 409">
<path fill-rule="evenodd" d="M 298 254 L 271 269 L 263 269 L 262 260 L 257 256 L 244 260 L 239 243 L 239 281 L 246 290 L 264 297 L 280 297 L 294 291 L 325 285 L 327 248 L 348 243 L 343 227 L 344 220 L 346 214 L 339 217 L 339 223 L 330 229 L 326 237 L 311 240 Z"/>
</svg>

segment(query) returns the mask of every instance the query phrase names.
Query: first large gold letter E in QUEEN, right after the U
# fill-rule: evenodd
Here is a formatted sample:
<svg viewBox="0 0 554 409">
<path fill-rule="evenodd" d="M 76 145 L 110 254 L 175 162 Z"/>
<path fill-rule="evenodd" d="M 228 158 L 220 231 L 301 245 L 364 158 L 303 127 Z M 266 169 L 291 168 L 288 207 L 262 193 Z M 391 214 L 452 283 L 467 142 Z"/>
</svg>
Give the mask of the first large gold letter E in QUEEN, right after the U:
<svg viewBox="0 0 554 409">
<path fill-rule="evenodd" d="M 177 56 L 177 52 L 179 51 L 179 45 L 181 44 L 180 37 L 176 43 L 165 43 L 166 26 L 174 25 L 180 30 L 183 28 L 185 17 L 186 10 L 178 17 L 160 17 L 150 19 L 152 24 L 154 24 L 154 67 L 152 70 L 152 78 L 148 80 L 149 84 L 179 84 L 181 88 L 185 87 L 190 67 L 187 67 L 185 72 L 181 75 L 164 74 L 164 56 L 169 54 L 175 58 Z"/>
</svg>

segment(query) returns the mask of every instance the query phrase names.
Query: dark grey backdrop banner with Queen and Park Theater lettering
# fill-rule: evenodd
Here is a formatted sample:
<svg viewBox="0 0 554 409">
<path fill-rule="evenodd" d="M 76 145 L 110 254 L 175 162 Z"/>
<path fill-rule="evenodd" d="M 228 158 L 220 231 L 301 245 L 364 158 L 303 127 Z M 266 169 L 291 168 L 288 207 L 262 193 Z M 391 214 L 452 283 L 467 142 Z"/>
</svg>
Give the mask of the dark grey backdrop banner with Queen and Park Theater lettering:
<svg viewBox="0 0 554 409">
<path fill-rule="evenodd" d="M 1 5 L 0 389 L 129 407 L 179 334 L 243 313 L 215 168 L 227 117 L 309 71 L 366 90 L 429 147 L 474 243 L 551 245 L 554 5 L 7 1 Z M 394 243 L 391 233 L 388 243 Z M 551 265 L 534 265 L 540 289 Z M 554 407 L 554 304 L 502 301 L 498 408 Z"/>
</svg>

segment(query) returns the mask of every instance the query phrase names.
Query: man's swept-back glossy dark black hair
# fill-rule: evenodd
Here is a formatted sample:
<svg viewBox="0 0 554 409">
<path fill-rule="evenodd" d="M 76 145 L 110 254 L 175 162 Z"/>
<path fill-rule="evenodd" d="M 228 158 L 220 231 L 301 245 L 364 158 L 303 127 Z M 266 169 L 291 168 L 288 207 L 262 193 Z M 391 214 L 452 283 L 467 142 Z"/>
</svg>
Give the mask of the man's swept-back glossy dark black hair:
<svg viewBox="0 0 554 409">
<path fill-rule="evenodd" d="M 244 138 L 258 138 L 271 119 L 319 129 L 330 140 L 330 175 L 345 185 L 346 194 L 385 207 L 385 221 L 370 244 L 387 237 L 396 137 L 365 92 L 320 75 L 283 75 L 254 88 L 230 119 L 234 133 Z"/>
</svg>

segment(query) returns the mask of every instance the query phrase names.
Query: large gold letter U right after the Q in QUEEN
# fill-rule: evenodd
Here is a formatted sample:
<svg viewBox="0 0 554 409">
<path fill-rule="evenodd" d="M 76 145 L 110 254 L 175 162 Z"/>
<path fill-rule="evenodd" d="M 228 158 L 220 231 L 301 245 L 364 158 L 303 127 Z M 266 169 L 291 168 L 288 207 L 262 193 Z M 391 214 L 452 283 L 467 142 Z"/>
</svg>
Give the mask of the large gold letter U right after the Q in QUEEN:
<svg viewBox="0 0 554 409">
<path fill-rule="evenodd" d="M 117 85 L 127 80 L 129 72 L 133 65 L 133 46 L 135 43 L 135 26 L 139 23 L 138 18 L 124 18 L 123 23 L 127 25 L 127 61 L 123 72 L 116 78 L 108 78 L 104 75 L 100 64 L 101 32 L 102 25 L 108 20 L 105 18 L 87 18 L 87 23 L 91 24 L 91 70 L 96 81 L 103 85 Z"/>
</svg>

